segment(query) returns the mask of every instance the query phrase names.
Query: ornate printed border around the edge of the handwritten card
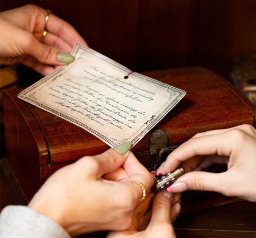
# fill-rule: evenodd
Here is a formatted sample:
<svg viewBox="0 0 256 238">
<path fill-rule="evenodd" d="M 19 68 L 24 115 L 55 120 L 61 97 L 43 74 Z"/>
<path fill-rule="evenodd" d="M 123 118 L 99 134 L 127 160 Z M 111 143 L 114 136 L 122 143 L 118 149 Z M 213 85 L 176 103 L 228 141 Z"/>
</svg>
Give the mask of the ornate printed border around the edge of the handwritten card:
<svg viewBox="0 0 256 238">
<path fill-rule="evenodd" d="M 90 56 L 95 56 L 97 59 L 101 59 L 104 62 L 108 63 L 109 65 L 112 65 L 115 68 L 120 69 L 121 71 L 125 72 L 125 74 L 131 72 L 131 70 L 127 69 L 126 67 L 124 67 L 122 65 L 120 65 L 119 63 L 115 62 L 114 60 L 111 60 L 108 57 L 104 56 L 103 54 L 100 54 L 97 51 L 94 51 L 94 50 L 92 50 L 90 48 L 84 47 L 83 45 L 80 45 L 78 43 L 76 44 L 75 49 L 72 51 L 72 54 L 74 56 L 77 56 L 77 54 L 78 54 L 80 49 L 83 49 L 83 51 L 86 51 Z M 172 87 L 170 85 L 161 83 L 160 81 L 158 81 L 156 79 L 152 79 L 152 78 L 149 78 L 147 76 L 143 76 L 143 75 L 140 75 L 140 74 L 138 74 L 136 72 L 133 72 L 133 75 L 132 75 L 133 77 L 141 79 L 141 80 L 144 80 L 144 81 L 148 81 L 151 84 L 158 85 L 158 86 L 160 86 L 162 88 L 166 88 L 167 90 L 171 90 L 172 92 L 175 91 L 178 95 L 175 98 L 175 100 L 173 100 L 169 105 L 166 106 L 166 104 L 168 104 L 168 101 L 167 101 L 166 104 L 163 106 L 163 107 L 165 107 L 163 109 L 163 111 L 160 114 L 159 114 L 159 111 L 157 111 L 157 113 L 156 113 L 156 114 L 158 114 L 157 117 L 156 117 L 156 115 L 152 115 L 151 118 L 149 118 L 149 120 L 147 122 L 145 122 L 145 124 L 138 131 L 136 131 L 131 136 L 131 138 L 126 138 L 126 139 L 123 139 L 123 140 L 118 140 L 118 139 L 115 139 L 115 138 L 107 138 L 105 135 L 103 135 L 103 134 L 99 133 L 98 131 L 94 130 L 92 127 L 90 127 L 90 126 L 88 126 L 88 125 L 86 125 L 86 124 L 84 124 L 82 122 L 79 122 L 79 121 L 75 120 L 74 118 L 72 118 L 72 117 L 70 117 L 70 116 L 68 116 L 66 114 L 63 114 L 63 113 L 61 113 L 59 111 L 56 111 L 53 108 L 50 108 L 50 107 L 48 107 L 46 105 L 43 105 L 43 104 L 41 104 L 39 102 L 36 102 L 35 100 L 25 96 L 26 94 L 30 93 L 30 91 L 40 87 L 46 81 L 48 81 L 48 80 L 53 80 L 54 81 L 58 77 L 61 77 L 62 74 L 60 74 L 60 72 L 65 70 L 67 67 L 68 66 L 62 66 L 58 71 L 56 71 L 56 72 L 52 73 L 51 75 L 49 75 L 47 77 L 44 77 L 43 79 L 39 80 L 37 83 L 33 84 L 28 89 L 25 89 L 24 91 L 22 91 L 18 95 L 18 97 L 23 98 L 27 102 L 31 102 L 33 104 L 36 104 L 36 105 L 38 105 L 38 107 L 41 107 L 41 108 L 45 109 L 45 111 L 52 112 L 53 114 L 58 115 L 59 117 L 62 117 L 65 120 L 67 120 L 67 121 L 69 121 L 71 123 L 74 123 L 74 124 L 84 128 L 85 130 L 87 130 L 90 133 L 94 134 L 97 138 L 104 140 L 105 142 L 107 142 L 109 145 L 112 145 L 113 147 L 115 147 L 116 145 L 118 145 L 120 143 L 128 141 L 129 139 L 132 138 L 132 136 L 134 134 L 136 134 L 140 130 L 142 130 L 137 136 L 135 136 L 135 138 L 132 139 L 131 143 L 134 144 L 135 142 L 139 141 L 149 130 L 152 129 L 152 127 L 154 125 L 156 125 L 181 100 L 182 97 L 184 97 L 186 95 L 185 91 L 182 91 L 182 90 L 180 90 L 178 88 L 175 88 L 175 87 Z M 172 96 L 176 96 L 176 95 L 172 95 L 171 96 L 171 92 L 169 92 L 169 93 L 170 93 L 170 98 L 169 99 L 171 99 Z M 32 95 L 32 98 L 33 98 L 33 95 Z M 34 98 L 34 99 L 36 99 L 36 98 Z"/>
</svg>

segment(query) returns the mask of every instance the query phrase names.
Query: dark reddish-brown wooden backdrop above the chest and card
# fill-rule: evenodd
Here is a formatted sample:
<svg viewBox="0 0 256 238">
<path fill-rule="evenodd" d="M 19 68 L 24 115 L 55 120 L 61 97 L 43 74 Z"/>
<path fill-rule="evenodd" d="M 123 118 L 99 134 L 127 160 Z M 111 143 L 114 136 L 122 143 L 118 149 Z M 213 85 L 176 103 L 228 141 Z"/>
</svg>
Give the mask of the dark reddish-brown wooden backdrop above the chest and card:
<svg viewBox="0 0 256 238">
<path fill-rule="evenodd" d="M 233 58 L 256 48 L 255 0 L 1 0 L 1 11 L 28 3 L 133 71 L 197 65 L 228 79 Z"/>
</svg>

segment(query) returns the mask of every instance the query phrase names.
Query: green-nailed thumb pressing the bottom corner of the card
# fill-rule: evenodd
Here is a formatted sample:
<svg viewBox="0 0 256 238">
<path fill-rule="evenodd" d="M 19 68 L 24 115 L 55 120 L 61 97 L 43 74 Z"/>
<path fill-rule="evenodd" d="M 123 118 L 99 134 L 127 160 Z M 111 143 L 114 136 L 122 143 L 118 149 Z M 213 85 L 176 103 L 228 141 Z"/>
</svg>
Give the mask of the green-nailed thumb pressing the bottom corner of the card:
<svg viewBox="0 0 256 238">
<path fill-rule="evenodd" d="M 120 168 L 127 159 L 131 147 L 132 143 L 127 141 L 102 154 L 95 155 L 94 158 L 98 162 L 97 175 L 103 176 Z"/>
</svg>

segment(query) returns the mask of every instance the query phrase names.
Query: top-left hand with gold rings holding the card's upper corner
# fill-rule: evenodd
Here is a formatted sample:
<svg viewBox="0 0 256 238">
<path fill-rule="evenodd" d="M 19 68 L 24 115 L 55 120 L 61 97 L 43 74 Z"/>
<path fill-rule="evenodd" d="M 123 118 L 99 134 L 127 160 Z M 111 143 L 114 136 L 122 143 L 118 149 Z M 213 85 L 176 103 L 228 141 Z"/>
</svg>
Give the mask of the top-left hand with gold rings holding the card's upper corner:
<svg viewBox="0 0 256 238">
<path fill-rule="evenodd" d="M 69 54 L 78 42 L 85 40 L 67 22 L 35 5 L 8 10 L 0 14 L 0 63 L 22 63 L 42 75 L 50 74 L 57 66 L 74 60 Z M 40 42 L 47 30 L 43 43 Z M 67 54 L 68 53 L 68 54 Z"/>
</svg>

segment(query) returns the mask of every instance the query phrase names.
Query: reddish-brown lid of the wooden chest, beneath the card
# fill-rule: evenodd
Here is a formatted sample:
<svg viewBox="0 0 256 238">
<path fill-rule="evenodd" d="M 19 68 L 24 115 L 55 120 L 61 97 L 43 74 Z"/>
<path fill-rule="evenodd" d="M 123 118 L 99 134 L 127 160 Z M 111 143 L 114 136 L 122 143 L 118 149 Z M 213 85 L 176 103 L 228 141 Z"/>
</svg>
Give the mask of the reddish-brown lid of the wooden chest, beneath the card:
<svg viewBox="0 0 256 238">
<path fill-rule="evenodd" d="M 187 92 L 185 98 L 152 130 L 164 130 L 168 134 L 169 145 L 185 142 L 198 132 L 240 124 L 255 127 L 255 107 L 233 85 L 210 70 L 192 67 L 143 74 Z M 12 89 L 7 94 L 17 107 L 28 106 L 43 134 L 51 163 L 79 159 L 109 148 L 75 124 L 18 99 L 16 95 L 23 89 Z M 26 117 L 26 113 L 23 115 Z M 134 152 L 149 149 L 152 131 L 135 145 Z"/>
</svg>

